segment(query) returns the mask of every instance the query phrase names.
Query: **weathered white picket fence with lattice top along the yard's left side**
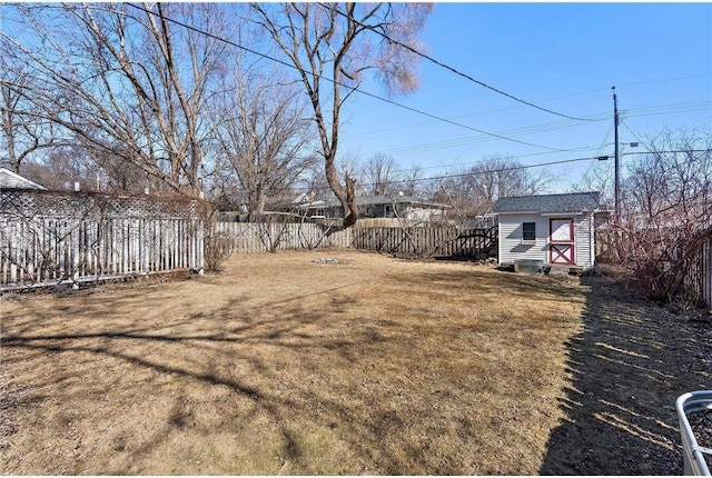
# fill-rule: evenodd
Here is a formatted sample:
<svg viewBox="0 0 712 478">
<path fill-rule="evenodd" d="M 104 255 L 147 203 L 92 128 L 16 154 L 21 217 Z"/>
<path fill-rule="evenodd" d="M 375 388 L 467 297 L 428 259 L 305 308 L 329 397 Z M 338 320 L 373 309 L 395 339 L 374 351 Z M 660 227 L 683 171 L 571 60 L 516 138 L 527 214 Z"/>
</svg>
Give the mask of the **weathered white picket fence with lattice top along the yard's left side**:
<svg viewBox="0 0 712 478">
<path fill-rule="evenodd" d="M 198 201 L 0 192 L 0 290 L 201 269 Z"/>
</svg>

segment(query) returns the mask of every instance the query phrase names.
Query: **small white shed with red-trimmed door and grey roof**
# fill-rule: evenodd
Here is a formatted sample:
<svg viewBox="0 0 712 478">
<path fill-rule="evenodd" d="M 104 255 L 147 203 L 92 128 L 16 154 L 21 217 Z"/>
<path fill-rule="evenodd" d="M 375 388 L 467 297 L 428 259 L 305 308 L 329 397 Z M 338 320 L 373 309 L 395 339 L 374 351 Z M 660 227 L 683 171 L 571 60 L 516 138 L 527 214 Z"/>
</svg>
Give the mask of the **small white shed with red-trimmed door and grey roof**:
<svg viewBox="0 0 712 478">
<path fill-rule="evenodd" d="M 522 260 L 590 269 L 595 262 L 599 192 L 500 198 L 501 266 Z"/>
</svg>

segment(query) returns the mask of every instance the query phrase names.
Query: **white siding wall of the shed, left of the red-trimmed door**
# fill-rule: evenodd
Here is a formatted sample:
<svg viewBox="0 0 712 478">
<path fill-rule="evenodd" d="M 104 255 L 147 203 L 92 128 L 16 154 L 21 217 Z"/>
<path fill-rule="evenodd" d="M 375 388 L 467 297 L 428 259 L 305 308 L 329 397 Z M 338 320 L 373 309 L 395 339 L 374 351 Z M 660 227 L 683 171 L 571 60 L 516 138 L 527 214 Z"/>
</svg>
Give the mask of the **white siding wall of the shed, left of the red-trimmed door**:
<svg viewBox="0 0 712 478">
<path fill-rule="evenodd" d="M 522 243 L 522 223 L 536 223 L 536 241 Z M 540 215 L 500 216 L 500 263 L 512 263 L 517 259 L 548 261 L 548 218 Z"/>
</svg>

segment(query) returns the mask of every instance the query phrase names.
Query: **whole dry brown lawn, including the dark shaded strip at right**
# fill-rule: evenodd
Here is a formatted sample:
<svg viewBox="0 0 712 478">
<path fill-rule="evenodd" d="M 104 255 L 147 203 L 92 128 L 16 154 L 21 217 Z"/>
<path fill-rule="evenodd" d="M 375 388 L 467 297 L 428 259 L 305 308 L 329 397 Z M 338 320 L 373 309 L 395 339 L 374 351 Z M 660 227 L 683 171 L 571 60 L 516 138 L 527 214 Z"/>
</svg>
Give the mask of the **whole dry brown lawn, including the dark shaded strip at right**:
<svg viewBox="0 0 712 478">
<path fill-rule="evenodd" d="M 679 472 L 706 345 L 606 283 L 319 251 L 6 297 L 0 471 Z"/>
</svg>

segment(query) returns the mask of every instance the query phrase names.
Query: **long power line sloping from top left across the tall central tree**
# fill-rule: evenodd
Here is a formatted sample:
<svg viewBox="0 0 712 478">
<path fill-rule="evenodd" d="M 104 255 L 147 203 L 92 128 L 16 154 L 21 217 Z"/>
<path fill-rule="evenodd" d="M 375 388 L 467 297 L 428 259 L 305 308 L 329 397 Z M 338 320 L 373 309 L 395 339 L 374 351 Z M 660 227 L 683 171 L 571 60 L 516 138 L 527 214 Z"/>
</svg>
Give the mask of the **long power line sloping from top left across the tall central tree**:
<svg viewBox="0 0 712 478">
<path fill-rule="evenodd" d="M 134 3 L 126 3 L 126 4 L 128 4 L 129 7 L 132 7 L 132 8 L 137 9 L 137 10 L 141 10 L 141 11 L 144 11 L 144 12 L 146 12 L 148 14 L 158 16 L 158 13 L 156 13 L 156 12 L 154 12 L 151 10 L 147 10 L 144 7 L 139 7 L 139 6 L 136 6 Z M 189 24 L 184 23 L 181 21 L 175 20 L 175 19 L 172 19 L 170 17 L 162 16 L 161 19 L 164 19 L 166 21 L 169 21 L 171 23 L 175 23 L 175 24 L 177 24 L 179 27 L 186 28 L 188 30 L 195 31 L 196 33 L 207 36 L 207 37 L 212 38 L 212 39 L 218 40 L 218 41 L 222 41 L 226 44 L 229 44 L 231 47 L 235 47 L 235 48 L 238 48 L 240 50 L 247 51 L 249 53 L 256 54 L 256 56 L 258 56 L 260 58 L 265 58 L 267 60 L 275 61 L 275 62 L 277 62 L 277 63 L 279 63 L 281 66 L 285 66 L 287 68 L 299 70 L 296 66 L 290 64 L 290 63 L 288 63 L 286 61 L 279 60 L 277 58 L 270 57 L 270 56 L 265 54 L 265 53 L 260 53 L 259 51 L 253 50 L 253 49 L 250 49 L 248 47 L 245 47 L 245 46 L 241 46 L 241 44 L 236 43 L 234 41 L 230 41 L 230 40 L 227 40 L 225 38 L 218 37 L 216 34 L 212 34 L 212 33 L 207 32 L 205 30 L 200 30 L 200 29 L 198 29 L 196 27 L 192 27 L 192 26 L 189 26 Z M 419 110 L 417 108 L 413 108 L 413 107 L 408 107 L 406 104 L 398 103 L 398 102 L 396 102 L 394 100 L 389 100 L 387 98 L 379 97 L 378 94 L 374 94 L 374 93 L 370 93 L 368 91 L 364 91 L 364 90 L 362 90 L 362 89 L 359 89 L 357 87 L 350 87 L 348 84 L 339 83 L 338 81 L 335 81 L 335 80 L 333 80 L 330 78 L 327 78 L 327 77 L 324 77 L 324 76 L 320 76 L 320 74 L 314 73 L 314 76 L 317 77 L 317 78 L 320 78 L 323 80 L 326 80 L 328 82 L 332 82 L 334 84 L 337 84 L 339 87 L 349 88 L 350 90 L 356 91 L 358 93 L 362 93 L 364 96 L 367 96 L 367 97 L 377 99 L 379 101 L 396 106 L 398 108 L 402 108 L 402 109 L 405 109 L 405 110 L 408 110 L 408 111 L 412 111 L 412 112 L 415 112 L 415 113 L 418 113 L 418 114 L 422 114 L 422 116 L 425 116 L 425 117 L 428 117 L 428 118 L 433 118 L 435 120 L 438 120 L 438 121 L 442 121 L 442 122 L 446 122 L 448 125 L 453 125 L 453 126 L 456 126 L 456 127 L 459 127 L 459 128 L 468 129 L 468 130 L 472 130 L 472 131 L 475 131 L 475 132 L 478 132 L 478 133 L 482 133 L 482 135 L 491 136 L 493 138 L 498 138 L 498 139 L 502 139 L 502 140 L 505 140 L 505 141 L 511 141 L 511 142 L 517 142 L 520 145 L 531 146 L 531 147 L 534 147 L 534 148 L 548 149 L 550 151 L 560 151 L 560 152 L 567 151 L 565 149 L 552 148 L 552 147 L 548 147 L 548 146 L 536 145 L 536 143 L 528 142 L 528 141 L 522 141 L 522 140 L 517 140 L 517 139 L 513 139 L 513 138 L 507 138 L 505 136 L 493 133 L 493 132 L 490 132 L 490 131 L 484 131 L 484 130 L 481 130 L 481 129 L 477 129 L 477 128 L 473 128 L 473 127 L 467 126 L 467 125 L 463 125 L 463 123 L 459 123 L 459 122 L 456 122 L 456 121 L 453 121 L 453 120 L 448 120 L 448 119 L 439 117 L 437 114 L 428 113 L 427 111 L 423 111 L 423 110 Z"/>
</svg>

